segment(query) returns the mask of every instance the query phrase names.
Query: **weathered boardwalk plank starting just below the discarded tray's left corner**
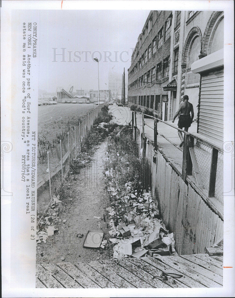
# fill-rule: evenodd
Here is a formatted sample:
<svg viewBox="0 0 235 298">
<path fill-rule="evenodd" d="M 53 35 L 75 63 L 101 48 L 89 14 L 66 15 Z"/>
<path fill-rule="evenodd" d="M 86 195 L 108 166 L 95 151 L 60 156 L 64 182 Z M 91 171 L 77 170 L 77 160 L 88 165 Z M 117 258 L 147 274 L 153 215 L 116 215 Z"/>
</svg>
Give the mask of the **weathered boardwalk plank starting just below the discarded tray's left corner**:
<svg viewBox="0 0 235 298">
<path fill-rule="evenodd" d="M 118 288 L 114 283 L 105 278 L 102 274 L 97 272 L 86 263 L 75 263 L 75 266 L 85 273 L 91 280 L 97 283 L 101 288 Z"/>
</svg>

